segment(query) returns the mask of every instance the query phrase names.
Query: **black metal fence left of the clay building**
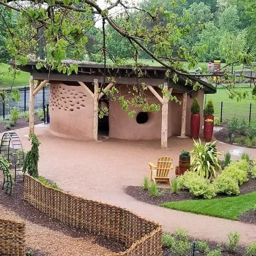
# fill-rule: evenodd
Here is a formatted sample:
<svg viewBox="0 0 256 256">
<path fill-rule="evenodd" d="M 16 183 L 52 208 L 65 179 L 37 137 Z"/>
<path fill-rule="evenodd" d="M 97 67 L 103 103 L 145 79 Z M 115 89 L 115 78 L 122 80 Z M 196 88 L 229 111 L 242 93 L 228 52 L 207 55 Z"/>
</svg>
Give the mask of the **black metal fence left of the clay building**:
<svg viewBox="0 0 256 256">
<path fill-rule="evenodd" d="M 28 112 L 29 110 L 29 86 L 24 86 L 18 88 L 20 91 L 20 100 L 15 102 L 13 99 L 9 97 L 12 90 L 5 90 L 7 97 L 4 102 L 0 103 L 0 119 L 8 120 L 10 117 L 10 111 L 13 107 L 17 107 L 22 116 L 23 113 Z M 49 104 L 49 86 L 44 86 L 35 96 L 34 100 L 34 110 L 37 112 L 38 110 L 44 110 L 44 106 Z"/>
</svg>

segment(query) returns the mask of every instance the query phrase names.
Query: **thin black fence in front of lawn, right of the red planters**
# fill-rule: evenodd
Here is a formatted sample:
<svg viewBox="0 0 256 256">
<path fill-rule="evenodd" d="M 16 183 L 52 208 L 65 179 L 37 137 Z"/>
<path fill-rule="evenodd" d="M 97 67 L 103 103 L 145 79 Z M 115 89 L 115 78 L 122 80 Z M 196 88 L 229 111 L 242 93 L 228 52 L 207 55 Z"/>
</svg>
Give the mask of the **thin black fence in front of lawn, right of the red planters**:
<svg viewBox="0 0 256 256">
<path fill-rule="evenodd" d="M 214 102 L 214 117 L 220 122 L 227 123 L 232 118 L 239 118 L 245 122 L 256 121 L 256 103 Z"/>
</svg>

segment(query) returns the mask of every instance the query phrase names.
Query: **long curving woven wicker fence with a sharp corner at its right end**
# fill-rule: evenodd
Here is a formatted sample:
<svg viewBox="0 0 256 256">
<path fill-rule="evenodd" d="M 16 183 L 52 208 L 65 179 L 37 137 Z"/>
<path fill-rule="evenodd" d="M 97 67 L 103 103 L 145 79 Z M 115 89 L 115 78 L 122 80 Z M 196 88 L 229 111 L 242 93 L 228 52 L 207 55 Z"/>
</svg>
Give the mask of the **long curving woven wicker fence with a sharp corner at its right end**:
<svg viewBox="0 0 256 256">
<path fill-rule="evenodd" d="M 162 255 L 162 226 L 126 209 L 46 187 L 28 174 L 24 198 L 52 218 L 124 242 L 129 247 L 125 252 L 109 256 Z"/>
</svg>

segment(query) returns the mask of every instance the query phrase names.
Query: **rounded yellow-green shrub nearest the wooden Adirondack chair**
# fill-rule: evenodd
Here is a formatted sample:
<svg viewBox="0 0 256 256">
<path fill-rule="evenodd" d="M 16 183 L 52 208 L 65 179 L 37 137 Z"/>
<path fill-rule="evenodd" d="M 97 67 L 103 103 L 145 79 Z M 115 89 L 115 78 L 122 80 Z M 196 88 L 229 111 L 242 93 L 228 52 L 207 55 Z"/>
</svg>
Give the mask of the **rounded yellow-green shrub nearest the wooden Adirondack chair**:
<svg viewBox="0 0 256 256">
<path fill-rule="evenodd" d="M 177 179 L 180 189 L 188 190 L 194 196 L 202 196 L 207 199 L 216 196 L 210 181 L 199 176 L 196 172 L 187 171 Z"/>
</svg>

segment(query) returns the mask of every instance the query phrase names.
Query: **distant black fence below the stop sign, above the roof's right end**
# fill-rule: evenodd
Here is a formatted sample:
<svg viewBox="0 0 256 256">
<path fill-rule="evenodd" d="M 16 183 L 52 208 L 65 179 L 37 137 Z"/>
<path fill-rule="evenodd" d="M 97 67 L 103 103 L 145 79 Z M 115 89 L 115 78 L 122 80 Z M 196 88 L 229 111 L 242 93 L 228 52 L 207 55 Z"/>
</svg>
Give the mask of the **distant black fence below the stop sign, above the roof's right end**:
<svg viewBox="0 0 256 256">
<path fill-rule="evenodd" d="M 195 72 L 190 72 L 195 74 Z M 253 79 L 256 73 L 254 71 L 229 71 L 231 76 L 225 80 L 222 76 L 200 77 L 200 79 L 212 84 L 216 88 L 225 88 L 228 84 L 234 83 L 234 88 L 248 88 L 253 86 Z"/>
</svg>

